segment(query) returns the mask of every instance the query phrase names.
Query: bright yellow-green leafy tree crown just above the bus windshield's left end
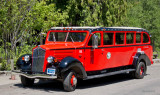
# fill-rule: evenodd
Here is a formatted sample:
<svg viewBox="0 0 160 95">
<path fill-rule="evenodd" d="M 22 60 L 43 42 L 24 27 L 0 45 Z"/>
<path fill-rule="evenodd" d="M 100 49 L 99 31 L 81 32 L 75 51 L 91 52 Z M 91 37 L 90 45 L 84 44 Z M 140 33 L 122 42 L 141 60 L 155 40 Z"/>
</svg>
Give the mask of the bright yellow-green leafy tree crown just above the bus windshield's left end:
<svg viewBox="0 0 160 95">
<path fill-rule="evenodd" d="M 65 12 L 55 9 L 55 4 L 49 4 L 45 1 L 37 2 L 29 14 L 33 19 L 33 30 L 47 32 L 51 27 L 67 25 L 65 19 L 68 18 Z"/>
</svg>

